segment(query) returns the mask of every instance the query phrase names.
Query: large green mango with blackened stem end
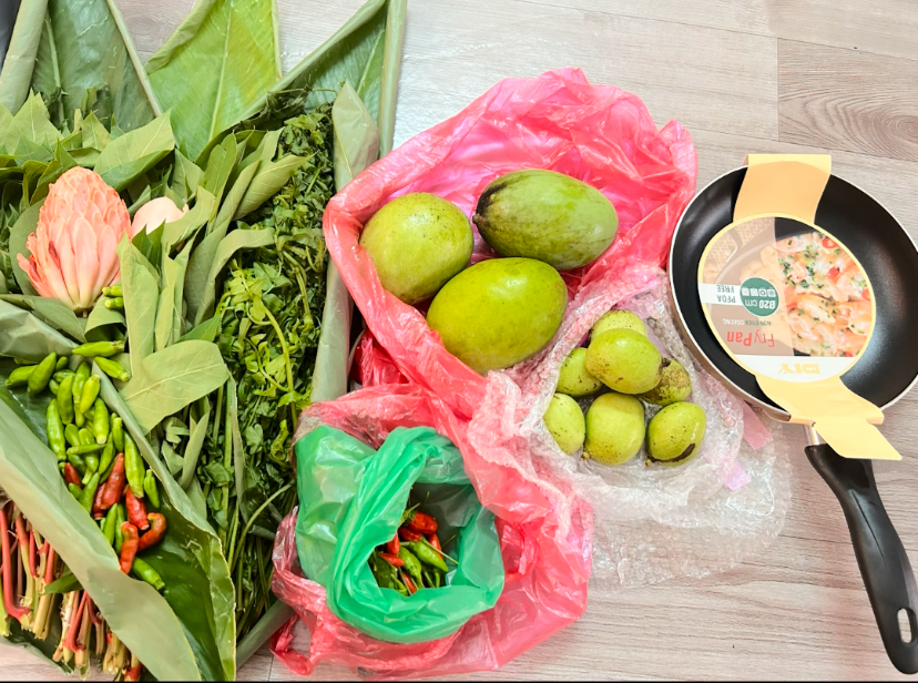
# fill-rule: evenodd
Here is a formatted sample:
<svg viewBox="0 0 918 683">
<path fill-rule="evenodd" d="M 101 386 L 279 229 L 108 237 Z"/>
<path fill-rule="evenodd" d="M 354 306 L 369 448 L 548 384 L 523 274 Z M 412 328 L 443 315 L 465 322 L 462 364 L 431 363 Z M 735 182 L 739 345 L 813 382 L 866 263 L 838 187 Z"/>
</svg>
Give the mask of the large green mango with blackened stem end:
<svg viewBox="0 0 918 683">
<path fill-rule="evenodd" d="M 599 190 L 538 169 L 492 181 L 472 222 L 501 256 L 536 258 L 559 271 L 595 261 L 619 230 L 615 207 Z"/>
</svg>

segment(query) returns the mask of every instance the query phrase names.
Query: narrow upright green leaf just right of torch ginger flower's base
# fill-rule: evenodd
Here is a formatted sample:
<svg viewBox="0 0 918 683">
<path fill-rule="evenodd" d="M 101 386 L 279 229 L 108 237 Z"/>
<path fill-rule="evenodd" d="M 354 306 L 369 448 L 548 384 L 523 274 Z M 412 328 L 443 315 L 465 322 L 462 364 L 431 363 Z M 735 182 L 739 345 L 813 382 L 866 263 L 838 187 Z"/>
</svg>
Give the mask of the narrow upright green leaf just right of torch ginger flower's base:
<svg viewBox="0 0 918 683">
<path fill-rule="evenodd" d="M 131 374 L 136 378 L 142 371 L 144 358 L 154 349 L 160 288 L 156 285 L 156 272 L 126 238 L 118 245 L 118 258 L 121 263 L 124 317 L 131 345 Z"/>
</svg>

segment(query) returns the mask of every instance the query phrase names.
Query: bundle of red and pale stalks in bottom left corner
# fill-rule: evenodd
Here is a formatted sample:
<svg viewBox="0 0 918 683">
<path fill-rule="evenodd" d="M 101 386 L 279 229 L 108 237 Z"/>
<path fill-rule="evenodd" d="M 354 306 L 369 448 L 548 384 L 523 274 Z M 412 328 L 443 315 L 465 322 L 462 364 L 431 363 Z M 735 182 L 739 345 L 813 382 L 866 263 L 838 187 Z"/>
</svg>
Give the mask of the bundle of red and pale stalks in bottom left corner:
<svg viewBox="0 0 918 683">
<path fill-rule="evenodd" d="M 48 639 L 60 598 L 61 640 L 52 659 L 85 677 L 94 654 L 103 672 L 124 681 L 140 680 L 143 669 L 136 655 L 112 632 L 89 593 L 13 502 L 0 507 L 0 635 L 10 634 L 10 619 L 16 619 L 22 630 Z"/>
</svg>

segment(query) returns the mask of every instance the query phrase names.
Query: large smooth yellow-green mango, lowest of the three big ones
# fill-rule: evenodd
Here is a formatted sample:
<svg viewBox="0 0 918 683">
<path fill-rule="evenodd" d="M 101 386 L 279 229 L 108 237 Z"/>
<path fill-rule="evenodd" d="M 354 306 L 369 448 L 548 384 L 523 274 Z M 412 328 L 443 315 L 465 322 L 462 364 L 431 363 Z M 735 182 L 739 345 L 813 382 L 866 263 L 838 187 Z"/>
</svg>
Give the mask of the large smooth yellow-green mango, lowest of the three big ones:
<svg viewBox="0 0 918 683">
<path fill-rule="evenodd" d="M 484 375 L 542 350 L 564 317 L 558 271 L 531 258 L 492 258 L 462 271 L 434 297 L 427 324 L 443 346 Z"/>
</svg>

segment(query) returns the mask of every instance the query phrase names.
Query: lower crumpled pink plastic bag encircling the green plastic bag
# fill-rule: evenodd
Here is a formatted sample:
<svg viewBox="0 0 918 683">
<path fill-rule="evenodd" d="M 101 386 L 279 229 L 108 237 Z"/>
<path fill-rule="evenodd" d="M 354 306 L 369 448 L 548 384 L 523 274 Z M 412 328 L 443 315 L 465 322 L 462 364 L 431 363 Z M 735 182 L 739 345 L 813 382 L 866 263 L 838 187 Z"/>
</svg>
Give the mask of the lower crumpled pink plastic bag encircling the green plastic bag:
<svg viewBox="0 0 918 683">
<path fill-rule="evenodd" d="M 300 417 L 294 441 L 318 424 L 337 427 L 374 448 L 396 427 L 429 426 L 449 437 L 462 451 L 479 499 L 497 516 L 507 577 L 497 605 L 452 635 L 412 644 L 378 641 L 335 616 L 326 604 L 325 589 L 303 577 L 294 510 L 277 531 L 272 583 L 274 593 L 296 610 L 312 632 L 306 654 L 294 648 L 294 622 L 275 634 L 272 650 L 292 671 L 309 675 L 326 660 L 377 679 L 492 670 L 583 613 L 592 512 L 569 486 L 559 482 L 547 489 L 512 463 L 493 467 L 469 441 L 468 422 L 417 385 L 380 385 L 315 404 Z M 563 517 L 555 512 L 562 502 L 568 510 Z"/>
</svg>

